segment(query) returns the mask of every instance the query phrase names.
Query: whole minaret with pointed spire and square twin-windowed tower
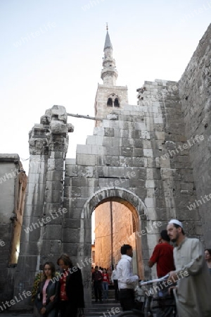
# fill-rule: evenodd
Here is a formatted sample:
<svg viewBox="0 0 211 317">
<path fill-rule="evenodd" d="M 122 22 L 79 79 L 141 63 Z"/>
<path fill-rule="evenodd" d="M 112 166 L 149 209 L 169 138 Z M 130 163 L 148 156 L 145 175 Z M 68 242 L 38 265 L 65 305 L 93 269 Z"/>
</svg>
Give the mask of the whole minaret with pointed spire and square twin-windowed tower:
<svg viewBox="0 0 211 317">
<path fill-rule="evenodd" d="M 103 69 L 101 70 L 103 85 L 98 84 L 94 105 L 95 116 L 98 118 L 106 119 L 108 113 L 120 110 L 124 104 L 128 104 L 127 86 L 116 86 L 117 76 L 113 46 L 108 34 L 108 25 L 106 25 Z M 96 126 L 100 124 L 101 121 L 96 121 Z"/>
</svg>

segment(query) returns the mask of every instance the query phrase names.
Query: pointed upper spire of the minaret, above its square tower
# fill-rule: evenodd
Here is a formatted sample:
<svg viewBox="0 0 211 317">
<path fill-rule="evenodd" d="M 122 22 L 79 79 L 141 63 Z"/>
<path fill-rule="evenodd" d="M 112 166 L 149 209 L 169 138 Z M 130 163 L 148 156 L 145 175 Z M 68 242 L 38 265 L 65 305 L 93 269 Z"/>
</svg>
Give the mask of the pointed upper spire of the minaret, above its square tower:
<svg viewBox="0 0 211 317">
<path fill-rule="evenodd" d="M 108 23 L 106 23 L 106 31 L 101 78 L 103 80 L 103 85 L 115 86 L 118 73 L 115 66 L 115 59 L 113 58 L 113 46 L 110 42 L 110 36 L 108 34 Z"/>
</svg>

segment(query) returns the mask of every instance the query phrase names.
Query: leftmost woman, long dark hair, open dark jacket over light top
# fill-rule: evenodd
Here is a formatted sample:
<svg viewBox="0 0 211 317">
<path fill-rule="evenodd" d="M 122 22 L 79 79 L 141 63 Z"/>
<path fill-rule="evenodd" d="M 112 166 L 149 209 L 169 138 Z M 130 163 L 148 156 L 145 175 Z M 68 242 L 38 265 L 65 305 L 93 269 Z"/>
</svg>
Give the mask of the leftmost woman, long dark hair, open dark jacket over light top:
<svg viewBox="0 0 211 317">
<path fill-rule="evenodd" d="M 44 263 L 41 281 L 37 289 L 35 306 L 41 316 L 57 317 L 58 281 L 55 280 L 55 266 L 52 262 Z"/>
</svg>

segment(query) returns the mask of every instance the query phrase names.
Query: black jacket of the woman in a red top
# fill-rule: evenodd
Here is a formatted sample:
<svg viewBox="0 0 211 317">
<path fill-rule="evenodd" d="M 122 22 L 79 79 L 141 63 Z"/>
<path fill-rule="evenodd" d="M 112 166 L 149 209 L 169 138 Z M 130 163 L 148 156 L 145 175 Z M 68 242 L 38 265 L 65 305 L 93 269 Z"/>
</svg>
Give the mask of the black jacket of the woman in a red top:
<svg viewBox="0 0 211 317">
<path fill-rule="evenodd" d="M 84 285 L 82 282 L 82 272 L 77 266 L 73 266 L 73 268 L 69 268 L 68 270 L 65 291 L 68 297 L 68 302 L 71 303 L 71 306 L 75 306 L 77 308 L 84 307 Z M 59 295 L 60 284 L 58 290 L 58 296 Z"/>
</svg>

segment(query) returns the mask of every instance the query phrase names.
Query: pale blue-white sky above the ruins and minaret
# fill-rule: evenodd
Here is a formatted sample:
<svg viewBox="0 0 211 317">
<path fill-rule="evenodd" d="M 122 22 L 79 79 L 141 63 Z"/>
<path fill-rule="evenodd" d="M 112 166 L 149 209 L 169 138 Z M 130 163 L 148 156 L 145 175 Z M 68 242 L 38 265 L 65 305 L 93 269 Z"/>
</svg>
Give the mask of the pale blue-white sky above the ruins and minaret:
<svg viewBox="0 0 211 317">
<path fill-rule="evenodd" d="M 117 85 L 136 104 L 144 80 L 179 80 L 210 16 L 211 0 L 0 0 L 1 153 L 27 159 L 28 132 L 54 104 L 94 115 L 107 22 Z M 68 122 L 70 158 L 94 121 Z"/>
</svg>

